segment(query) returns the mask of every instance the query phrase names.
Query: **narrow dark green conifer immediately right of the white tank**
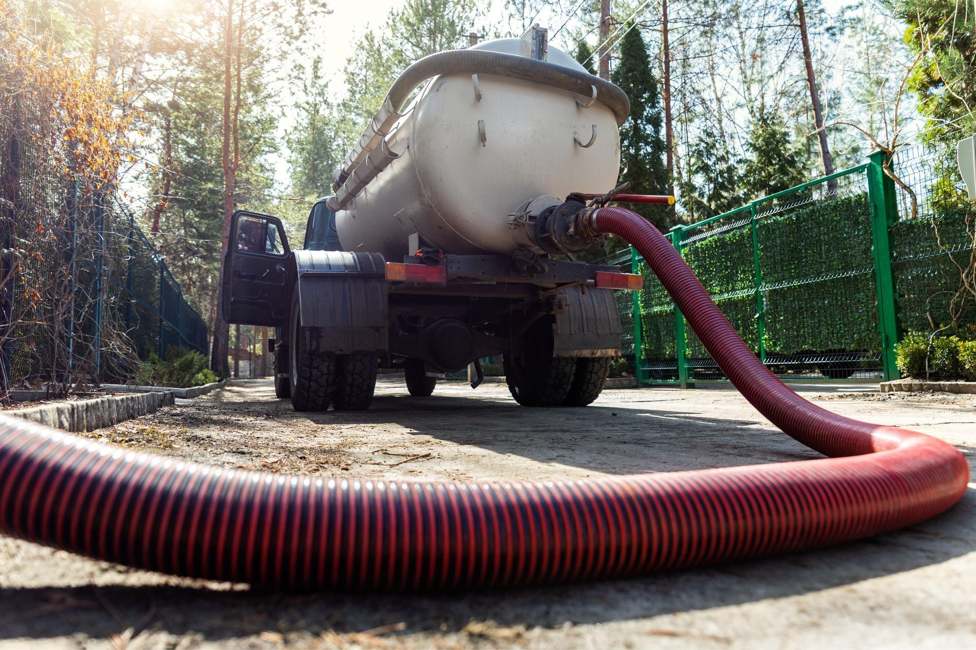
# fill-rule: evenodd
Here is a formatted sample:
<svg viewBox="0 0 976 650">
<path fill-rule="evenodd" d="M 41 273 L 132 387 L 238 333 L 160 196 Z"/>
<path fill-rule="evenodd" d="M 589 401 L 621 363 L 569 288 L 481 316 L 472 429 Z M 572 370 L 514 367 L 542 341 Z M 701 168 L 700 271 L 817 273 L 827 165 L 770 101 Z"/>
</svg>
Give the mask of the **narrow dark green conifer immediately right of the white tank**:
<svg viewBox="0 0 976 650">
<path fill-rule="evenodd" d="M 623 180 L 630 181 L 629 191 L 634 194 L 667 194 L 661 95 L 639 29 L 629 29 L 624 35 L 612 81 L 630 97 L 630 116 L 620 129 L 621 159 L 627 166 Z M 671 210 L 651 206 L 631 208 L 661 229 L 674 222 Z"/>
</svg>

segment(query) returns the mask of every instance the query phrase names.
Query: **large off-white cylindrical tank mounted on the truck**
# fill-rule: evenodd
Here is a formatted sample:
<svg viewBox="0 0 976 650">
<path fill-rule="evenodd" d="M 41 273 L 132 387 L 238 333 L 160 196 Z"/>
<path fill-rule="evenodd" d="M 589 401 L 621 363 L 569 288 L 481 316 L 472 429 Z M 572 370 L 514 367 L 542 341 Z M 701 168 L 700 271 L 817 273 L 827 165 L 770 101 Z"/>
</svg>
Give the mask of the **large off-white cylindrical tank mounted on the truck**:
<svg viewBox="0 0 976 650">
<path fill-rule="evenodd" d="M 531 47 L 503 38 L 472 49 L 529 57 Z M 547 59 L 584 70 L 555 48 Z M 519 246 L 508 215 L 520 204 L 613 189 L 620 135 L 598 97 L 587 108 L 590 97 L 549 86 L 482 74 L 477 83 L 480 100 L 470 75 L 434 77 L 411 102 L 386 136 L 399 158 L 336 215 L 343 249 L 399 261 L 416 233 L 448 253 L 510 253 Z"/>
</svg>

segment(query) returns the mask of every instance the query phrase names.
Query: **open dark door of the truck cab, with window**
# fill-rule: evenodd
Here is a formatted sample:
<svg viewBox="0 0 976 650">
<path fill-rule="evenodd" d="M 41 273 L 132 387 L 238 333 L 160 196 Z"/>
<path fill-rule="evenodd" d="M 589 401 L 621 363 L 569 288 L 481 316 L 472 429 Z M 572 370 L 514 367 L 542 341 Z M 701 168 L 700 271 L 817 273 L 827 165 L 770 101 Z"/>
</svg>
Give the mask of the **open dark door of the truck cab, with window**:
<svg viewBox="0 0 976 650">
<path fill-rule="evenodd" d="M 224 321 L 284 325 L 289 254 L 281 219 L 246 210 L 233 213 L 224 257 Z"/>
</svg>

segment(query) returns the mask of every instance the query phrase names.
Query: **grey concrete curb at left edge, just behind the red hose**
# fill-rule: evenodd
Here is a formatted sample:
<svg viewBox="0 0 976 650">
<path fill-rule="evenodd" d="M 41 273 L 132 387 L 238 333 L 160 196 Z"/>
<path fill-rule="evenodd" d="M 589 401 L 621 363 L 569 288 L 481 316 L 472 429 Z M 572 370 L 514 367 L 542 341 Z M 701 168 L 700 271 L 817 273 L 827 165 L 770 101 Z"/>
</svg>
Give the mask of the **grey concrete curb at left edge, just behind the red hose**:
<svg viewBox="0 0 976 650">
<path fill-rule="evenodd" d="M 55 429 L 79 433 L 110 427 L 147 413 L 154 413 L 160 406 L 172 404 L 173 393 L 163 391 L 94 400 L 61 401 L 4 411 L 4 415 L 16 415 Z"/>
</svg>

